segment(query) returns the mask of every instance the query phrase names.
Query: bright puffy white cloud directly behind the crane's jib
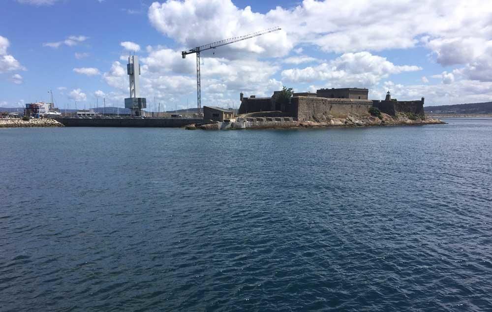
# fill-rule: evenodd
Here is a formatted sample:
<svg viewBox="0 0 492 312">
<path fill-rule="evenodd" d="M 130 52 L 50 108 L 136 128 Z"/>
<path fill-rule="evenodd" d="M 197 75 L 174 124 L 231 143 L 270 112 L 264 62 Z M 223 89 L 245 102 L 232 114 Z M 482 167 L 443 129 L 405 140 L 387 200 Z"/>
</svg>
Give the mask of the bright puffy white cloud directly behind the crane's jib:
<svg viewBox="0 0 492 312">
<path fill-rule="evenodd" d="M 158 31 L 189 48 L 277 26 L 264 14 L 252 12 L 249 6 L 239 9 L 230 0 L 154 2 L 148 15 Z M 242 51 L 275 57 L 286 55 L 292 47 L 292 41 L 281 30 L 223 46 L 214 52 L 220 57 L 233 57 Z"/>
</svg>

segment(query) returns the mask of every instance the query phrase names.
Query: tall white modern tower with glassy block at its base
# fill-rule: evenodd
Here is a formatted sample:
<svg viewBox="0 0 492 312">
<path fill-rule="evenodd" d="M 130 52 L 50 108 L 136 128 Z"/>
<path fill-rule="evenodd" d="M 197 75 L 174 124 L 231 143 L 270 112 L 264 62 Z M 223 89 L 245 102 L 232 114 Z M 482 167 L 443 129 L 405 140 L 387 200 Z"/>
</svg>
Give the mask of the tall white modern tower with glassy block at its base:
<svg viewBox="0 0 492 312">
<path fill-rule="evenodd" d="M 147 108 L 147 99 L 140 96 L 140 64 L 138 56 L 128 57 L 126 72 L 130 80 L 130 97 L 124 99 L 124 107 L 131 110 L 132 117 L 142 116 L 142 108 Z"/>
</svg>

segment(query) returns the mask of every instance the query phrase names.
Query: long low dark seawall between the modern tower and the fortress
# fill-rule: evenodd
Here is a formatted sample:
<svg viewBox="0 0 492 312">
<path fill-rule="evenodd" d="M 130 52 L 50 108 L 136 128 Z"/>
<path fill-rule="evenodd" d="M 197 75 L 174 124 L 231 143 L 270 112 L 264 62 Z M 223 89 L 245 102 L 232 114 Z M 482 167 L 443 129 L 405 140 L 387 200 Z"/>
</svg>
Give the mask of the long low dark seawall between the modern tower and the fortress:
<svg viewBox="0 0 492 312">
<path fill-rule="evenodd" d="M 212 124 L 211 120 L 203 119 L 182 119 L 182 118 L 59 118 L 60 123 L 67 127 L 184 127 L 190 124 Z"/>
</svg>

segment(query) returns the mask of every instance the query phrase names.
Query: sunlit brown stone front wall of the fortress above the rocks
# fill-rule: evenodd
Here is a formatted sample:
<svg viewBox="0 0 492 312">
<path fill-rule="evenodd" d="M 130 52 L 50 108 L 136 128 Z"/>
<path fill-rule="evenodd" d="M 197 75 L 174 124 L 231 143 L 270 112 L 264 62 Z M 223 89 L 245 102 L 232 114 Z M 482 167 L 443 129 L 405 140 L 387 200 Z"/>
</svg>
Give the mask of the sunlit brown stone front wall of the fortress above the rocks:
<svg viewBox="0 0 492 312">
<path fill-rule="evenodd" d="M 369 116 L 372 101 L 348 98 L 293 97 L 290 105 L 292 117 L 299 121 L 326 121 L 330 116 L 346 118 L 348 115 Z"/>
</svg>

